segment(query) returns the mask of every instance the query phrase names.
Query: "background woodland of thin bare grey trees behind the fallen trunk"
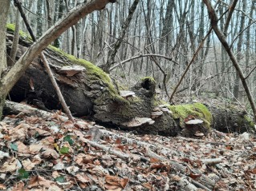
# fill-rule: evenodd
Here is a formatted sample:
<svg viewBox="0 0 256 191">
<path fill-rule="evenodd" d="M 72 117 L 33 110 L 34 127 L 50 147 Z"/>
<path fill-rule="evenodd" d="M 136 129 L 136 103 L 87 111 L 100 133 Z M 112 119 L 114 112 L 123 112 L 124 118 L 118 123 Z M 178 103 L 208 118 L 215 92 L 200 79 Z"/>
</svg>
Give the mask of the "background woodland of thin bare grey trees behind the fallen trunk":
<svg viewBox="0 0 256 191">
<path fill-rule="evenodd" d="M 108 52 L 120 38 L 132 2 L 119 1 L 89 14 L 57 38 L 54 45 L 77 58 L 86 59 L 97 66 L 104 65 L 108 60 Z M 238 1 L 230 25 L 225 26 L 228 15 L 225 13 L 231 2 L 217 1 L 217 14 L 222 15 L 218 26 L 225 32 L 226 41 L 232 45 L 231 49 L 255 97 L 255 2 Z M 24 0 L 22 6 L 32 30 L 39 38 L 79 3 L 83 1 Z M 8 22 L 15 22 L 14 15 L 14 6 L 10 6 Z M 164 76 L 167 93 L 171 94 L 209 28 L 209 16 L 203 2 L 139 1 L 110 70 L 127 84 L 143 76 L 152 76 L 166 97 L 162 85 Z M 21 29 L 26 31 L 23 24 Z M 192 98 L 206 95 L 246 101 L 240 83 L 226 50 L 212 32 L 178 92 Z"/>
</svg>

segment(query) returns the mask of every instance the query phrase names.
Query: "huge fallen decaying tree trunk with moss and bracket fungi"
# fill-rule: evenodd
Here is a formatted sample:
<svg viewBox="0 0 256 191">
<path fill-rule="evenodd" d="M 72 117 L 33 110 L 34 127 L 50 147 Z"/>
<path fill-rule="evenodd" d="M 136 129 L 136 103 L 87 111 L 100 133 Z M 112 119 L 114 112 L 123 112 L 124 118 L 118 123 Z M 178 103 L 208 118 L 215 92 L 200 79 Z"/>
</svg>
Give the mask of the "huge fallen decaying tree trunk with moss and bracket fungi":
<svg viewBox="0 0 256 191">
<path fill-rule="evenodd" d="M 10 51 L 13 30 L 8 29 L 7 50 Z M 18 59 L 30 41 L 21 36 Z M 45 51 L 51 70 L 63 97 L 76 117 L 90 117 L 106 125 L 115 125 L 139 133 L 201 137 L 210 127 L 222 131 L 251 130 L 254 124 L 238 109 L 210 107 L 201 103 L 168 105 L 155 96 L 156 82 L 143 78 L 132 91 L 120 90 L 103 70 L 90 62 L 65 54 L 53 46 Z M 58 97 L 39 58 L 10 91 L 12 101 L 26 101 L 41 109 L 61 109 Z M 6 111 L 8 104 L 6 104 Z M 227 128 L 229 127 L 229 128 Z"/>
</svg>

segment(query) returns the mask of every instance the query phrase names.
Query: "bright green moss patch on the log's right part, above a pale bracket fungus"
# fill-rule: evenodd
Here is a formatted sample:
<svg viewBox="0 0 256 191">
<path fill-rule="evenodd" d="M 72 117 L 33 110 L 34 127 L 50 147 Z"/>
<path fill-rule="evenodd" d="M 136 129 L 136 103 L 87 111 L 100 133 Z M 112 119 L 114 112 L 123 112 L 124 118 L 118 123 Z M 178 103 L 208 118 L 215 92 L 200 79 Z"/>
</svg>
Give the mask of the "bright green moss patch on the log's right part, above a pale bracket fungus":
<svg viewBox="0 0 256 191">
<path fill-rule="evenodd" d="M 185 126 L 185 118 L 193 115 L 205 122 L 207 127 L 210 127 L 213 117 L 205 105 L 201 103 L 186 104 L 186 105 L 169 105 L 169 109 L 173 112 L 172 116 L 175 119 L 180 119 L 181 127 Z"/>
</svg>

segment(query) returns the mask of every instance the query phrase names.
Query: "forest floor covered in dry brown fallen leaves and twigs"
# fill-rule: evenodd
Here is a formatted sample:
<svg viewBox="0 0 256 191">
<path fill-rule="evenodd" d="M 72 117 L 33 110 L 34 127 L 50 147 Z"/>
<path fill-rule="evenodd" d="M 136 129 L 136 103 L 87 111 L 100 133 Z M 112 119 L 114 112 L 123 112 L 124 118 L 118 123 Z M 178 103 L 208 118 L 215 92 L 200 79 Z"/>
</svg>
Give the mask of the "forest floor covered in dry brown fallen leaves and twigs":
<svg viewBox="0 0 256 191">
<path fill-rule="evenodd" d="M 136 135 L 20 113 L 0 122 L 0 189 L 255 190 L 256 137 Z"/>
</svg>

